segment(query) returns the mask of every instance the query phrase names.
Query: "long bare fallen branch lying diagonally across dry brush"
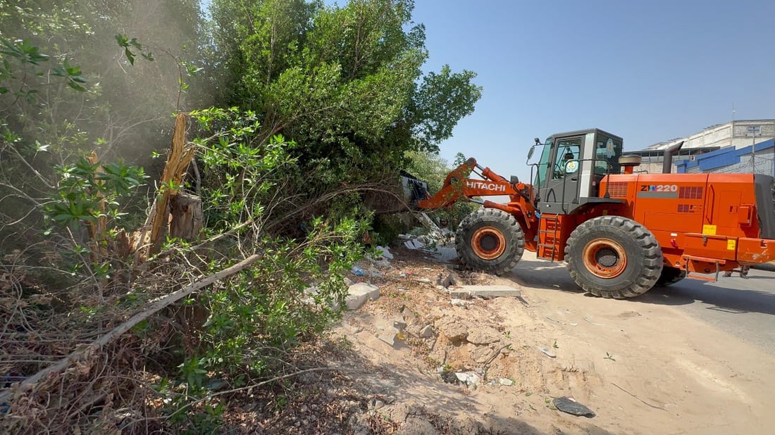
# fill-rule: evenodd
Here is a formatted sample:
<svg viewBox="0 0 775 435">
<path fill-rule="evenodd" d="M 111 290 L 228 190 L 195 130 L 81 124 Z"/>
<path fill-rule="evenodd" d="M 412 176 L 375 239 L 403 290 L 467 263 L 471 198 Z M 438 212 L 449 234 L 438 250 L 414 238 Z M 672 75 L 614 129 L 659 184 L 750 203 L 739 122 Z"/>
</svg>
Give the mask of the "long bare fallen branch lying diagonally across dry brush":
<svg viewBox="0 0 775 435">
<path fill-rule="evenodd" d="M 209 286 L 212 283 L 220 281 L 221 279 L 234 275 L 236 272 L 239 272 L 240 270 L 245 269 L 247 266 L 253 264 L 253 262 L 256 262 L 257 260 L 261 259 L 262 256 L 263 256 L 262 254 L 250 255 L 250 257 L 247 257 L 246 259 L 237 263 L 236 265 L 232 265 L 231 267 L 223 269 L 220 272 L 213 273 L 212 275 L 207 276 L 206 278 L 196 283 L 193 283 L 189 286 L 184 287 L 183 289 L 177 290 L 177 292 L 171 293 L 167 296 L 160 298 L 159 300 L 156 300 L 150 305 L 150 307 L 146 308 L 143 311 L 140 311 L 140 313 L 136 313 L 129 320 L 126 320 L 126 322 L 113 328 L 110 332 L 103 335 L 102 337 L 99 337 L 96 341 L 92 342 L 91 344 L 88 344 L 82 348 L 79 348 L 77 351 L 74 351 L 70 355 L 67 355 L 67 357 L 62 358 L 59 362 L 57 362 L 57 364 L 52 365 L 48 368 L 44 368 L 40 372 L 37 372 L 35 375 L 32 375 L 29 378 L 26 378 L 19 385 L 15 386 L 15 388 L 6 390 L 4 392 L 0 392 L 0 403 L 9 400 L 11 398 L 12 392 L 16 392 L 17 394 L 19 394 L 28 389 L 32 389 L 37 382 L 45 378 L 47 375 L 63 372 L 64 369 L 66 369 L 71 364 L 71 361 L 76 361 L 78 358 L 81 358 L 84 355 L 88 355 L 89 352 L 96 351 L 99 348 L 102 348 L 103 346 L 110 344 L 112 341 L 120 337 L 126 331 L 129 331 L 129 329 L 135 327 L 136 324 L 139 324 L 141 321 L 146 320 L 153 313 L 157 313 L 158 311 L 162 310 L 164 307 L 167 307 L 171 303 L 177 302 L 178 300 L 181 300 L 184 297 L 191 295 L 191 293 L 194 293 L 198 289 L 202 289 L 206 286 Z"/>
</svg>

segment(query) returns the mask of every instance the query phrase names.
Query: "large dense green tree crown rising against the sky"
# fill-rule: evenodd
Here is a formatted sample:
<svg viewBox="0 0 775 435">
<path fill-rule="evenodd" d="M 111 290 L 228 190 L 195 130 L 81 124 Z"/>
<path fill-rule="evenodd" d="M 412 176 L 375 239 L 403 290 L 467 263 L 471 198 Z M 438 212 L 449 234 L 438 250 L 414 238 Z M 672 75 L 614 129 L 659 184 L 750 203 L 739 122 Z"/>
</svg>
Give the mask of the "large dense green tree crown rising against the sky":
<svg viewBox="0 0 775 435">
<path fill-rule="evenodd" d="M 474 73 L 443 67 L 423 76 L 425 31 L 413 8 L 407 0 L 212 2 L 215 43 L 229 54 L 224 98 L 255 111 L 260 140 L 282 133 L 297 144 L 291 156 L 305 176 L 291 180 L 294 192 L 314 197 L 394 177 L 406 151 L 436 150 L 473 111 Z"/>
</svg>

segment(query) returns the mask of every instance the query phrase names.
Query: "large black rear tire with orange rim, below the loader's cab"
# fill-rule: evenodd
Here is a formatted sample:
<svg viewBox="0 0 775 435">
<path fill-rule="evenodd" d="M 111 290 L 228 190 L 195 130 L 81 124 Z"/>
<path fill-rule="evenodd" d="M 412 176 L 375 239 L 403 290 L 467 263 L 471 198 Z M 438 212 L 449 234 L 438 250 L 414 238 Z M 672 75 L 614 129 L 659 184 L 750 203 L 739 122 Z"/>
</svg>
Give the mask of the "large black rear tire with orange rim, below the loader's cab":
<svg viewBox="0 0 775 435">
<path fill-rule="evenodd" d="M 570 276 L 594 296 L 624 299 L 646 293 L 662 273 L 662 249 L 651 231 L 632 219 L 601 216 L 568 238 Z"/>
</svg>

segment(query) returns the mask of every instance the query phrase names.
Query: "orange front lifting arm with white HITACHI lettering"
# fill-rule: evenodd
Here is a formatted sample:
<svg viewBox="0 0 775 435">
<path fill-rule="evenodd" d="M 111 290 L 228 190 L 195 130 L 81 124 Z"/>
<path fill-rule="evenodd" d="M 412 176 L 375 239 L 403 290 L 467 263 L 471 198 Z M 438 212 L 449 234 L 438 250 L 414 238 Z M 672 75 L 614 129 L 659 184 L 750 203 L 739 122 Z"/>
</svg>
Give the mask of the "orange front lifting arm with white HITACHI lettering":
<svg viewBox="0 0 775 435">
<path fill-rule="evenodd" d="M 469 178 L 472 172 L 481 178 Z M 487 196 L 508 196 L 509 201 L 506 204 L 499 204 L 491 200 L 475 199 L 475 197 Z M 436 194 L 429 194 L 424 200 L 418 200 L 417 207 L 421 210 L 432 210 L 448 207 L 461 200 L 482 204 L 486 208 L 497 208 L 511 214 L 522 226 L 528 241 L 532 241 L 538 230 L 536 201 L 532 186 L 520 182 L 512 183 L 490 168 L 480 166 L 474 158 L 467 159 L 462 165 L 450 171 L 441 190 Z"/>
</svg>

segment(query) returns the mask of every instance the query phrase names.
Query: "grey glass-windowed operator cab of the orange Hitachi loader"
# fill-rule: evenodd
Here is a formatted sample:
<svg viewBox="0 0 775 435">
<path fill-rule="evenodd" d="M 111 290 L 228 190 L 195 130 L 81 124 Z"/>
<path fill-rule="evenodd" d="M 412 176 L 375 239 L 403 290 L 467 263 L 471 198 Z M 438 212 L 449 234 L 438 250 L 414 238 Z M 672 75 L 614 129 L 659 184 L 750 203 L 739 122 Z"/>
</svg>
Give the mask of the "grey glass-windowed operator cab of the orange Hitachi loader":
<svg viewBox="0 0 775 435">
<path fill-rule="evenodd" d="M 533 186 L 541 213 L 570 214 L 590 202 L 611 202 L 599 191 L 608 174 L 619 173 L 622 138 L 598 128 L 549 136 L 537 143 Z"/>
</svg>

